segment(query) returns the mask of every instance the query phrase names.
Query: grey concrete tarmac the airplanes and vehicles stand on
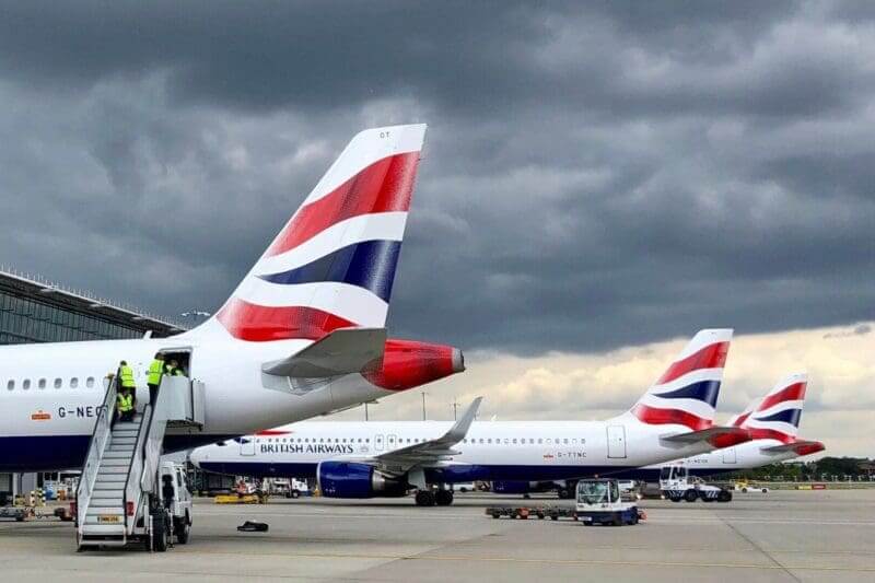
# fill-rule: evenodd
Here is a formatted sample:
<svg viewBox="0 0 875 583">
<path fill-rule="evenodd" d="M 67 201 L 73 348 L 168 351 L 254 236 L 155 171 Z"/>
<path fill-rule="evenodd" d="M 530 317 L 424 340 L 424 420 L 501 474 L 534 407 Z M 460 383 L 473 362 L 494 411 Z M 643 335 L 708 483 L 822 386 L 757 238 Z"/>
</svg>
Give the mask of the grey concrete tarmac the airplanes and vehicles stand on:
<svg viewBox="0 0 875 583">
<path fill-rule="evenodd" d="M 555 499 L 199 499 L 188 545 L 75 552 L 70 523 L 0 523 L 4 581 L 875 581 L 875 489 L 644 500 L 637 526 L 494 520 L 488 505 Z M 565 503 L 568 504 L 568 503 Z M 268 533 L 238 533 L 246 520 Z"/>
</svg>

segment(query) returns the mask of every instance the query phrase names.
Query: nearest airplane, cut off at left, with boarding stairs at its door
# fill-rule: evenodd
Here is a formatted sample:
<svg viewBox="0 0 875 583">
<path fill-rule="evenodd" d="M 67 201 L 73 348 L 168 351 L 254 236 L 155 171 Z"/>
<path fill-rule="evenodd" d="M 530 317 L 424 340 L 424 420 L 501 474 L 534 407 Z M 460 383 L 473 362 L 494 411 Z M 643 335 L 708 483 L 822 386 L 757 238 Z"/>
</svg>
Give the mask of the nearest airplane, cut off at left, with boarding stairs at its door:
<svg viewBox="0 0 875 583">
<path fill-rule="evenodd" d="M 425 135 L 349 142 L 217 314 L 172 338 L 0 347 L 0 471 L 82 467 L 106 386 L 135 369 L 138 407 L 162 351 L 202 383 L 205 422 L 166 452 L 358 406 L 464 370 L 458 349 L 386 338 L 386 315 Z"/>
</svg>

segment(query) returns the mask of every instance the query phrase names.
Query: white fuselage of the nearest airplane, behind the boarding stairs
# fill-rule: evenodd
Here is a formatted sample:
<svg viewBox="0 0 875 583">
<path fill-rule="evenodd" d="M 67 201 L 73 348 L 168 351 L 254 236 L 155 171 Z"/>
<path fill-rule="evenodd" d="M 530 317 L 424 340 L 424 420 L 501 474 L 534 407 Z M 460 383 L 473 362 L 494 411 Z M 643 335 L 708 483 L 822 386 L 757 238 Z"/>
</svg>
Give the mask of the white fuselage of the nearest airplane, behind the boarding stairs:
<svg viewBox="0 0 875 583">
<path fill-rule="evenodd" d="M 0 471 L 79 467 L 104 401 L 104 377 L 126 360 L 135 370 L 138 398 L 144 400 L 147 370 L 162 349 L 190 349 L 190 375 L 203 382 L 206 390 L 205 427 L 168 430 L 167 450 L 213 443 L 393 394 L 360 374 L 305 394 L 262 386 L 264 362 L 285 358 L 310 343 L 249 343 L 184 335 L 0 347 Z"/>
</svg>

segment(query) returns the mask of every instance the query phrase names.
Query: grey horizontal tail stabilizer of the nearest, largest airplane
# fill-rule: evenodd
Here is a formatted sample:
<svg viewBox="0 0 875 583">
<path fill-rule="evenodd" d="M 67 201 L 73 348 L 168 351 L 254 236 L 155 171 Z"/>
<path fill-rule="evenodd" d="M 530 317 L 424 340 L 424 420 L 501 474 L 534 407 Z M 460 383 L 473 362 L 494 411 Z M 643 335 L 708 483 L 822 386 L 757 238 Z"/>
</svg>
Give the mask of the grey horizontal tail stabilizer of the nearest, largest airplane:
<svg viewBox="0 0 875 583">
<path fill-rule="evenodd" d="M 386 328 L 338 328 L 305 349 L 261 370 L 276 376 L 324 378 L 360 372 L 383 358 Z"/>
</svg>

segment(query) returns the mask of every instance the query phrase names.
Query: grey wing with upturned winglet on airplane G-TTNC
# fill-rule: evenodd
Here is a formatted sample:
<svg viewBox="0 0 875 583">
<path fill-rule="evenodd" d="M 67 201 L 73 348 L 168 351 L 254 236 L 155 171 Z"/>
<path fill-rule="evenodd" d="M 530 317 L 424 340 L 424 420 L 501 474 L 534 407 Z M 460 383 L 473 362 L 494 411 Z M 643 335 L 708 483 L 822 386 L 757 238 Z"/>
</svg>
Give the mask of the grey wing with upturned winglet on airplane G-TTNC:
<svg viewBox="0 0 875 583">
<path fill-rule="evenodd" d="M 404 474 L 415 466 L 428 467 L 435 465 L 444 460 L 447 456 L 459 454 L 459 452 L 452 450 L 452 447 L 467 435 L 468 429 L 470 429 L 471 422 L 474 422 L 474 418 L 482 400 L 483 397 L 474 399 L 468 408 L 465 409 L 465 412 L 458 421 L 440 438 L 413 443 L 406 447 L 400 447 L 375 456 L 352 459 L 345 457 L 343 459 L 376 466 L 390 474 Z"/>
</svg>

